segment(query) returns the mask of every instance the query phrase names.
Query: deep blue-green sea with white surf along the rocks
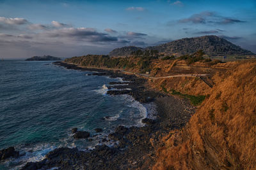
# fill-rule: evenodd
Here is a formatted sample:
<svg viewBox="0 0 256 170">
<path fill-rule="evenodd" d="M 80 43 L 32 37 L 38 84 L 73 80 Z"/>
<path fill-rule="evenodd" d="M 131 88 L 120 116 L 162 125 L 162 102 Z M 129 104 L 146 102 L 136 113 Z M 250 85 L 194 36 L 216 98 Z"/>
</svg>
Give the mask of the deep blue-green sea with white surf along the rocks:
<svg viewBox="0 0 256 170">
<path fill-rule="evenodd" d="M 0 61 L 0 150 L 15 146 L 22 154 L 2 162 L 0 169 L 43 159 L 60 146 L 93 147 L 118 125 L 141 125 L 146 111 L 140 103 L 108 96 L 102 87 L 121 79 L 86 73 L 51 62 Z M 89 142 L 73 139 L 72 127 L 92 135 L 97 127 L 104 131 Z"/>
</svg>

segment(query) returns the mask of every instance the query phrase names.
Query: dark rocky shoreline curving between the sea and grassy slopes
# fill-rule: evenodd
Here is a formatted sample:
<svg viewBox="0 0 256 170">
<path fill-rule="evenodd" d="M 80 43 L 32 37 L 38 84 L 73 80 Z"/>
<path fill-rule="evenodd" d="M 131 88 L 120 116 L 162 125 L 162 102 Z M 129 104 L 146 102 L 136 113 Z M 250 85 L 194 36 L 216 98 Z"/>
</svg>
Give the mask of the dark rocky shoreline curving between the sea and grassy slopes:
<svg viewBox="0 0 256 170">
<path fill-rule="evenodd" d="M 102 139 L 117 141 L 116 146 L 98 145 L 90 152 L 77 148 L 57 148 L 47 153 L 44 160 L 28 162 L 22 169 L 150 169 L 155 162 L 156 148 L 161 145 L 161 137 L 172 129 L 183 127 L 191 114 L 195 113 L 195 108 L 184 99 L 148 90 L 147 80 L 143 78 L 119 71 L 79 67 L 66 62 L 54 64 L 67 69 L 98 72 L 93 75 L 123 78 L 124 83 L 109 83 L 108 95 L 129 94 L 140 103 L 154 102 L 157 106 L 157 118 L 143 119 L 143 127 L 119 126 L 108 135 L 108 139 Z M 129 90 L 122 90 L 124 87 Z"/>
</svg>

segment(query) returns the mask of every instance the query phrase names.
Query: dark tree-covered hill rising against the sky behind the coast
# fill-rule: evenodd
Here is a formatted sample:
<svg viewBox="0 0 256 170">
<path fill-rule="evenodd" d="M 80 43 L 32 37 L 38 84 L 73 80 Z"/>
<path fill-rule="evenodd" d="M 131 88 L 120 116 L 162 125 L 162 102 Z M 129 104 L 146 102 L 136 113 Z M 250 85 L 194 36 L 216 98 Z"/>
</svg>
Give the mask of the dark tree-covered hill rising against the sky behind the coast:
<svg viewBox="0 0 256 170">
<path fill-rule="evenodd" d="M 116 48 L 109 55 L 115 52 L 115 55 L 129 55 L 128 53 L 141 48 L 132 46 L 132 50 L 129 50 L 130 46 L 123 48 Z M 244 50 L 240 46 L 234 45 L 224 38 L 218 36 L 200 36 L 196 38 L 183 38 L 169 43 L 164 43 L 157 46 L 148 46 L 142 48 L 142 50 L 158 50 L 165 55 L 186 55 L 195 53 L 198 50 L 203 50 L 205 54 L 209 56 L 222 56 L 222 55 L 255 55 L 249 50 Z"/>
</svg>

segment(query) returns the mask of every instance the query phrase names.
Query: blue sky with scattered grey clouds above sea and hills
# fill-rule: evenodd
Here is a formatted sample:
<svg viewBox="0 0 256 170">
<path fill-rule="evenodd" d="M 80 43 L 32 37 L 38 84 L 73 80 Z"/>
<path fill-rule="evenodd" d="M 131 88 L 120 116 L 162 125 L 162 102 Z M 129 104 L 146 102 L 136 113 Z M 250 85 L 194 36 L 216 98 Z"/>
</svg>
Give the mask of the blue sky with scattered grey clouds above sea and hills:
<svg viewBox="0 0 256 170">
<path fill-rule="evenodd" d="M 216 35 L 256 53 L 256 0 L 0 0 L 0 58 L 108 54 Z"/>
</svg>

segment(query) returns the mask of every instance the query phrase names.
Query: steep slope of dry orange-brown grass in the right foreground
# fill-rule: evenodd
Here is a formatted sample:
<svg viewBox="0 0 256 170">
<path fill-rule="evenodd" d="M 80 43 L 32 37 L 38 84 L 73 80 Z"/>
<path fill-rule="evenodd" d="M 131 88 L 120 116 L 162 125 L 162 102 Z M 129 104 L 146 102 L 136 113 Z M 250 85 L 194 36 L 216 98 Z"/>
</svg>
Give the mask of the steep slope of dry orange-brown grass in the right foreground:
<svg viewBox="0 0 256 170">
<path fill-rule="evenodd" d="M 186 127 L 162 139 L 153 169 L 256 169 L 256 60 L 233 65 Z"/>
</svg>

